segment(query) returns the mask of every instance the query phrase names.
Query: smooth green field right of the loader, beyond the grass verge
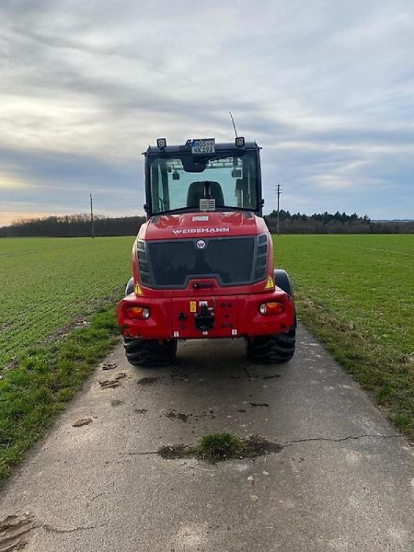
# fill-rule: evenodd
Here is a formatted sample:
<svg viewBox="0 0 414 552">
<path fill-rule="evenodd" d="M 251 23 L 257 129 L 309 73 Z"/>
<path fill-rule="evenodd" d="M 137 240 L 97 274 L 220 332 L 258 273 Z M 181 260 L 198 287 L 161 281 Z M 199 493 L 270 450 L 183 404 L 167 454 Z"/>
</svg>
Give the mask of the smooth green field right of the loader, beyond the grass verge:
<svg viewBox="0 0 414 552">
<path fill-rule="evenodd" d="M 297 292 L 384 349 L 414 355 L 414 235 L 273 239 Z"/>
</svg>

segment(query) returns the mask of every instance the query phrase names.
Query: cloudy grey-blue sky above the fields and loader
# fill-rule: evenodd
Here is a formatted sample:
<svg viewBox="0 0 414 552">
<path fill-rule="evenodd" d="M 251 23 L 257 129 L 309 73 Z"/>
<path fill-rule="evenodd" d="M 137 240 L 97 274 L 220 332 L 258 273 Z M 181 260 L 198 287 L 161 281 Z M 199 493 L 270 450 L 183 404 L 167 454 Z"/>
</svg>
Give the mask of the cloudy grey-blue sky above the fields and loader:
<svg viewBox="0 0 414 552">
<path fill-rule="evenodd" d="M 265 213 L 414 218 L 413 0 L 1 0 L 0 226 L 143 213 L 141 152 L 229 110 Z"/>
</svg>

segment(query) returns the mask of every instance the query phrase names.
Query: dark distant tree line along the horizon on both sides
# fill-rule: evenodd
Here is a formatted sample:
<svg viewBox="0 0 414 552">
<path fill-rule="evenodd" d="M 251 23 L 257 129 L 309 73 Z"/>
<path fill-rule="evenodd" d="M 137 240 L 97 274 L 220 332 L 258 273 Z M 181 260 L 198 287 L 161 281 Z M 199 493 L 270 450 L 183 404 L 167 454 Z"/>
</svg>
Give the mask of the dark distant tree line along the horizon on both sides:
<svg viewBox="0 0 414 552">
<path fill-rule="evenodd" d="M 270 233 L 277 233 L 277 213 L 264 217 Z M 138 233 L 145 217 L 108 218 L 97 216 L 94 235 L 132 236 Z M 412 234 L 414 221 L 371 221 L 366 215 L 358 217 L 346 213 L 302 215 L 279 211 L 281 234 Z M 66 215 L 43 219 L 23 219 L 0 228 L 0 237 L 87 237 L 92 235 L 89 215 Z"/>
</svg>

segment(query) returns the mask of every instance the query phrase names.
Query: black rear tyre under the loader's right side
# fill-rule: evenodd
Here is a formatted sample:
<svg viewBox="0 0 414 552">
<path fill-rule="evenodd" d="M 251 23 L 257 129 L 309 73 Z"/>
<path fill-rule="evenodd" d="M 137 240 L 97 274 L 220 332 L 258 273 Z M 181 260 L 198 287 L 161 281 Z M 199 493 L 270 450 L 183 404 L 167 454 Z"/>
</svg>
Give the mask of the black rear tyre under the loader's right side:
<svg viewBox="0 0 414 552">
<path fill-rule="evenodd" d="M 260 335 L 247 341 L 247 356 L 257 364 L 281 364 L 295 355 L 296 328 L 287 333 Z"/>
</svg>

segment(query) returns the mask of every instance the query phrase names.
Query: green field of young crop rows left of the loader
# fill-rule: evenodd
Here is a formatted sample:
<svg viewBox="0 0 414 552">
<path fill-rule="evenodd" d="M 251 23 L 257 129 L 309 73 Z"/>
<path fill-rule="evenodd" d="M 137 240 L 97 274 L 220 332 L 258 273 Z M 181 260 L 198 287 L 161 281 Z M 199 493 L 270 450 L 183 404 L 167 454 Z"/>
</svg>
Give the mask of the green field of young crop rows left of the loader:
<svg viewBox="0 0 414 552">
<path fill-rule="evenodd" d="M 133 238 L 0 239 L 0 368 L 122 295 Z"/>
</svg>

